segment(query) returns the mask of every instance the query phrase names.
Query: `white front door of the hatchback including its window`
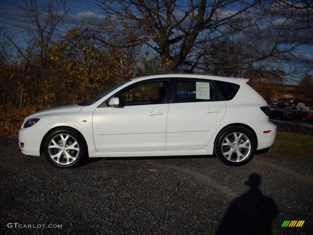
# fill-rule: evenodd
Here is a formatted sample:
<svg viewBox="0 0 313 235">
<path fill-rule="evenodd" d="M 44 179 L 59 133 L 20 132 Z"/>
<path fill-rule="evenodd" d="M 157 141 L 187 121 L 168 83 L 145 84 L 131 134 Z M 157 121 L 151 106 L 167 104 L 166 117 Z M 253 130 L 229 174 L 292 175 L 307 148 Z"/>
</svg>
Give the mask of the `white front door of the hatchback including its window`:
<svg viewBox="0 0 313 235">
<path fill-rule="evenodd" d="M 165 150 L 169 81 L 153 81 L 118 92 L 118 107 L 98 107 L 93 114 L 99 152 Z"/>
</svg>

